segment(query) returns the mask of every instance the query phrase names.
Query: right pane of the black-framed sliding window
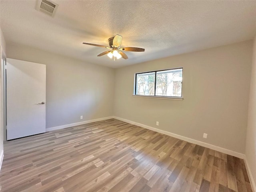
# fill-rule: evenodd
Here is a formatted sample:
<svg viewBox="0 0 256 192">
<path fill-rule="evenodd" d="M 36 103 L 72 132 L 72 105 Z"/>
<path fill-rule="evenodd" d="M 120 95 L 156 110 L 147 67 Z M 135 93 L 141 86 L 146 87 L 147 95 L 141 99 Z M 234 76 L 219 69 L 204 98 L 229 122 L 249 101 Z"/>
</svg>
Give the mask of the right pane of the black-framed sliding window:
<svg viewBox="0 0 256 192">
<path fill-rule="evenodd" d="M 156 96 L 181 97 L 182 69 L 156 72 Z"/>
</svg>

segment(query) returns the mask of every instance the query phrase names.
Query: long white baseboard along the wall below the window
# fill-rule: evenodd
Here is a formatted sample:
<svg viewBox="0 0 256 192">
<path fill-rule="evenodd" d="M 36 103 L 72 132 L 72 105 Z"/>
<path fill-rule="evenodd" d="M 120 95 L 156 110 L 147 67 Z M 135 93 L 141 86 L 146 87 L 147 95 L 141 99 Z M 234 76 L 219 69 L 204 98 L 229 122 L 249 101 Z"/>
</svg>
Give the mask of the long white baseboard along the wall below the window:
<svg viewBox="0 0 256 192">
<path fill-rule="evenodd" d="M 130 123 L 130 124 L 134 124 L 134 125 L 137 125 L 137 126 L 140 126 L 140 127 L 143 127 L 143 128 L 146 128 L 146 129 L 158 132 L 158 133 L 162 133 L 162 134 L 174 137 L 174 138 L 178 138 L 178 139 L 190 142 L 190 143 L 194 143 L 194 144 L 197 144 L 197 145 L 200 145 L 200 146 L 203 146 L 203 147 L 207 147 L 207 148 L 210 148 L 210 149 L 222 152 L 222 153 L 226 153 L 228 155 L 232 155 L 232 156 L 242 158 L 242 159 L 245 158 L 245 155 L 242 154 L 242 153 L 238 153 L 238 152 L 228 150 L 228 149 L 225 149 L 225 148 L 222 148 L 222 147 L 218 147 L 218 146 L 215 146 L 215 145 L 212 145 L 212 144 L 208 144 L 208 143 L 205 143 L 205 142 L 202 142 L 202 141 L 198 141 L 198 140 L 194 140 L 194 139 L 191 139 L 191 138 L 188 138 L 188 137 L 177 135 L 177 134 L 174 134 L 174 133 L 171 133 L 171 132 L 163 131 L 163 130 L 160 130 L 160 129 L 157 129 L 157 128 L 154 128 L 154 127 L 150 127 L 150 126 L 147 126 L 147 125 L 144 125 L 144 124 L 140 124 L 140 123 L 137 123 L 137 122 L 126 120 L 126 119 L 123 119 L 123 118 L 120 118 L 120 117 L 114 116 L 113 118 L 124 121 L 124 122 L 127 122 L 127 123 Z"/>
</svg>

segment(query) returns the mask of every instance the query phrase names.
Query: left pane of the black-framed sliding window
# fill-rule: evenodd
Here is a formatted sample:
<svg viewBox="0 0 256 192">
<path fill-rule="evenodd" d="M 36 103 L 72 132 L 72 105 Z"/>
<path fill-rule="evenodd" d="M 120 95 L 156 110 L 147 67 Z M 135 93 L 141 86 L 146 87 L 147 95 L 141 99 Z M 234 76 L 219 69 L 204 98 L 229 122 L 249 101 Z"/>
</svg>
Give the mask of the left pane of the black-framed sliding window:
<svg viewBox="0 0 256 192">
<path fill-rule="evenodd" d="M 155 72 L 136 74 L 136 95 L 154 95 Z"/>
</svg>

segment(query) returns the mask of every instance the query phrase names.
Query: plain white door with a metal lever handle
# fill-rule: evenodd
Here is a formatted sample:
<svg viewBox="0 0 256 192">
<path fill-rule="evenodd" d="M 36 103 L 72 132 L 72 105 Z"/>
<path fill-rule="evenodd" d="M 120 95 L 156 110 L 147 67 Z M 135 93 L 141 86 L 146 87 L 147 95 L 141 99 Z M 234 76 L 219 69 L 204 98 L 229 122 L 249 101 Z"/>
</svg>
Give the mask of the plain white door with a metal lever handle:
<svg viewBox="0 0 256 192">
<path fill-rule="evenodd" d="M 7 140 L 44 133 L 46 66 L 6 58 Z"/>
</svg>

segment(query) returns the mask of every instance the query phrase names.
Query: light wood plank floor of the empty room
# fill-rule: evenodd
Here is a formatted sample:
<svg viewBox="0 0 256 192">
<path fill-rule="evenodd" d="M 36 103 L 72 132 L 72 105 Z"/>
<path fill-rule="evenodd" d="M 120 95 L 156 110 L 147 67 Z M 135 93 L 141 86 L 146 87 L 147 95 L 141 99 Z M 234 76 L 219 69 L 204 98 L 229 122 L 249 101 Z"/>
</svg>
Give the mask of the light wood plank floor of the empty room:
<svg viewBox="0 0 256 192">
<path fill-rule="evenodd" d="M 111 119 L 4 142 L 2 192 L 252 192 L 242 159 Z"/>
</svg>

